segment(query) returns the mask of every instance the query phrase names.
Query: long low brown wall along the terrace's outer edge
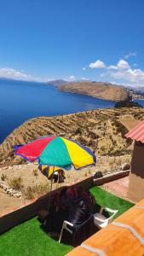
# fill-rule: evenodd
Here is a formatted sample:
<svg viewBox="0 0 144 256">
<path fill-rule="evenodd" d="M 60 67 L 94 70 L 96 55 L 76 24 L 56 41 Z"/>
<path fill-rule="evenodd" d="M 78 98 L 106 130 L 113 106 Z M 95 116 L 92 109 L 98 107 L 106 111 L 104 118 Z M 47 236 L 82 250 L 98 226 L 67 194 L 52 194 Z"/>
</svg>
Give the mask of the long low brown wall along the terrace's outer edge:
<svg viewBox="0 0 144 256">
<path fill-rule="evenodd" d="M 104 183 L 111 182 L 113 180 L 119 179 L 121 177 L 129 176 L 130 171 L 119 171 L 116 173 L 108 174 L 104 177 L 97 178 L 93 180 L 93 177 L 84 177 L 78 181 L 78 183 L 69 183 L 68 186 L 82 186 L 84 189 L 90 189 L 93 186 L 100 186 Z M 60 189 L 62 189 L 61 187 Z M 54 196 L 60 191 L 60 189 L 55 189 L 51 192 L 51 196 Z M 24 206 L 18 209 L 11 209 L 10 212 L 5 212 L 3 216 L 0 216 L 0 234 L 11 229 L 17 224 L 26 221 L 37 215 L 40 209 L 48 207 L 49 193 L 43 195 L 40 198 L 29 201 Z"/>
</svg>

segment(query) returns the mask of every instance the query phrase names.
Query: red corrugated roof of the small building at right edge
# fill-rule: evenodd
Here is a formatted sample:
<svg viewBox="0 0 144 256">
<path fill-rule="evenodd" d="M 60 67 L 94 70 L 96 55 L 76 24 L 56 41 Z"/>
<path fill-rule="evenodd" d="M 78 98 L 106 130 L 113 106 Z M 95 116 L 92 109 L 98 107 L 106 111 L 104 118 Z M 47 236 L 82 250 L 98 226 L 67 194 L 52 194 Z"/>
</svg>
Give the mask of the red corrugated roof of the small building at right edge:
<svg viewBox="0 0 144 256">
<path fill-rule="evenodd" d="M 130 137 L 131 139 L 144 143 L 144 120 L 140 124 L 136 125 L 135 128 L 130 130 L 125 137 Z"/>
</svg>

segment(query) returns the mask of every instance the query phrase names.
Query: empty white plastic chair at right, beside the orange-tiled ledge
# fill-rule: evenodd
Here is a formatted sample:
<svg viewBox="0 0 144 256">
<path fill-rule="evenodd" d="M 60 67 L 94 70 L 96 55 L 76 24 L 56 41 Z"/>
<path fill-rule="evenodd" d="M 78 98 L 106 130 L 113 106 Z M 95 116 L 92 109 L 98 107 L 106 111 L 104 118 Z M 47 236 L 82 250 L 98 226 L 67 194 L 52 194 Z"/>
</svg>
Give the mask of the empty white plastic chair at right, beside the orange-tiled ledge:
<svg viewBox="0 0 144 256">
<path fill-rule="evenodd" d="M 112 213 L 112 215 L 109 218 L 105 217 L 102 214 L 103 210 L 105 210 L 106 212 Z M 107 224 L 110 224 L 112 222 L 112 219 L 114 218 L 114 216 L 116 215 L 117 212 L 118 212 L 118 210 L 112 210 L 108 207 L 101 207 L 100 212 L 95 213 L 93 215 L 95 226 L 97 226 L 99 229 L 103 229 L 103 228 L 107 227 Z"/>
</svg>

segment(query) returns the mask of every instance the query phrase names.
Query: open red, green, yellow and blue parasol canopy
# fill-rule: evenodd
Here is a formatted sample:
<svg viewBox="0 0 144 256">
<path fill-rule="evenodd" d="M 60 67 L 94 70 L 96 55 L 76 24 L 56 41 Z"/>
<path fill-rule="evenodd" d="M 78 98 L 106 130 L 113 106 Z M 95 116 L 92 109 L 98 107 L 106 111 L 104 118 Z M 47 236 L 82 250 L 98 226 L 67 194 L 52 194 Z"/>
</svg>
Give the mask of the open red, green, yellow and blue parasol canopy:
<svg viewBox="0 0 144 256">
<path fill-rule="evenodd" d="M 95 154 L 71 139 L 64 137 L 40 137 L 26 145 L 16 145 L 15 154 L 40 165 L 59 166 L 65 169 L 74 166 L 79 170 L 86 166 L 95 166 Z"/>
</svg>

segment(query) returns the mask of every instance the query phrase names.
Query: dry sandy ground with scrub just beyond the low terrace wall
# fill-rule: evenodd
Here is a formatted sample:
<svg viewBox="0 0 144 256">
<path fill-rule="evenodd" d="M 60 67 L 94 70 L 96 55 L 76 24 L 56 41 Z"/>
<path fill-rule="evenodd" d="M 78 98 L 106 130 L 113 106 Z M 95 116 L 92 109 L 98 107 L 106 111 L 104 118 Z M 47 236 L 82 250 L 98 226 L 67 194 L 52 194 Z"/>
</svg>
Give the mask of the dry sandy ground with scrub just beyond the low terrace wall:
<svg viewBox="0 0 144 256">
<path fill-rule="evenodd" d="M 114 171 L 120 168 L 124 162 L 130 162 L 130 155 L 120 157 L 100 157 L 97 160 L 96 166 L 88 167 L 80 171 L 75 171 L 74 169 L 66 171 L 65 182 L 61 184 L 54 184 L 53 189 L 60 187 L 60 185 L 63 186 L 77 182 L 80 178 L 89 177 L 93 172 L 112 172 L 112 170 Z M 43 174 L 37 169 L 37 163 L 0 168 L 0 182 L 3 179 L 3 176 L 3 182 L 6 184 L 9 184 L 14 178 L 21 177 L 22 197 L 15 198 L 12 195 L 8 195 L 4 189 L 0 189 L 0 214 L 12 211 L 17 207 L 21 207 L 26 203 L 26 201 L 29 201 L 32 196 L 32 198 L 36 198 L 49 191 L 50 182 L 48 178 L 43 176 Z"/>
</svg>

